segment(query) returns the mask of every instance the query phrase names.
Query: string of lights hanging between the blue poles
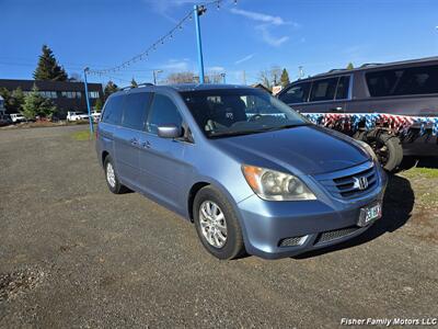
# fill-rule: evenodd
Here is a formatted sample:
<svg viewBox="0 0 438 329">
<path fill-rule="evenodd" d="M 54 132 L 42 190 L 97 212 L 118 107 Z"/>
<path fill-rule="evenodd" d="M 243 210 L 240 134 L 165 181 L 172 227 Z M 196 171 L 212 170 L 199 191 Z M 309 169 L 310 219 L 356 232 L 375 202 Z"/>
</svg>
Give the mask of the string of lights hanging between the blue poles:
<svg viewBox="0 0 438 329">
<path fill-rule="evenodd" d="M 218 10 L 220 10 L 220 4 L 221 2 L 224 0 L 215 0 L 215 1 L 210 1 L 210 2 L 205 2 L 203 4 L 199 5 L 199 15 L 204 14 L 207 11 L 207 7 L 210 5 L 216 5 Z M 238 3 L 238 0 L 234 0 L 234 4 Z M 130 65 L 137 63 L 137 61 L 141 61 L 141 60 L 148 60 L 149 59 L 149 54 L 150 52 L 157 50 L 157 46 L 159 44 L 164 45 L 164 41 L 168 39 L 173 39 L 173 35 L 175 34 L 176 31 L 178 30 L 183 30 L 183 24 L 187 21 L 192 21 L 193 20 L 193 11 L 191 10 L 180 22 L 177 22 L 175 24 L 175 26 L 169 31 L 166 34 L 164 34 L 163 36 L 161 36 L 160 38 L 158 38 L 154 43 L 152 43 L 145 52 L 142 52 L 139 55 L 134 56 L 132 58 L 130 58 L 129 60 L 126 60 L 125 63 L 123 63 L 122 65 L 112 67 L 112 68 L 107 68 L 107 69 L 101 69 L 101 70 L 89 70 L 88 72 L 91 75 L 96 75 L 96 76 L 107 76 L 107 73 L 115 73 L 122 69 L 125 69 L 127 67 L 129 67 Z"/>
</svg>

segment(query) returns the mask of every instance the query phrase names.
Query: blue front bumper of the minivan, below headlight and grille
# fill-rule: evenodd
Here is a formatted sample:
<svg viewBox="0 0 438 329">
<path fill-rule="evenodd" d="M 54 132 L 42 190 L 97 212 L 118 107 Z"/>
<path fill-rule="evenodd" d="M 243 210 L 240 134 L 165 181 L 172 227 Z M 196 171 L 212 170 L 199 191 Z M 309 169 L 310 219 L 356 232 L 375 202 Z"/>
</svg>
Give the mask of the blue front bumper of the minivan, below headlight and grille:
<svg viewBox="0 0 438 329">
<path fill-rule="evenodd" d="M 297 256 L 332 246 L 367 230 L 358 227 L 360 208 L 382 202 L 387 175 L 367 195 L 354 201 L 323 197 L 306 202 L 263 201 L 257 195 L 238 204 L 246 251 L 266 259 Z M 378 219 L 379 220 L 379 219 Z"/>
</svg>

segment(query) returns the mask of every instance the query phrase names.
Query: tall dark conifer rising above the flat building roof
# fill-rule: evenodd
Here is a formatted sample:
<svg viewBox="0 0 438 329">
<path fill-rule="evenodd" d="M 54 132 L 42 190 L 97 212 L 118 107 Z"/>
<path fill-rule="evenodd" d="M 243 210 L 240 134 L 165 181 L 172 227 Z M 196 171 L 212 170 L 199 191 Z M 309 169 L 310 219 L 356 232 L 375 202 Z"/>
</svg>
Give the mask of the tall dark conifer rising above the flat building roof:
<svg viewBox="0 0 438 329">
<path fill-rule="evenodd" d="M 34 71 L 35 80 L 66 81 L 67 73 L 56 60 L 54 53 L 47 45 L 43 45 L 43 54 L 39 56 L 38 66 Z"/>
</svg>

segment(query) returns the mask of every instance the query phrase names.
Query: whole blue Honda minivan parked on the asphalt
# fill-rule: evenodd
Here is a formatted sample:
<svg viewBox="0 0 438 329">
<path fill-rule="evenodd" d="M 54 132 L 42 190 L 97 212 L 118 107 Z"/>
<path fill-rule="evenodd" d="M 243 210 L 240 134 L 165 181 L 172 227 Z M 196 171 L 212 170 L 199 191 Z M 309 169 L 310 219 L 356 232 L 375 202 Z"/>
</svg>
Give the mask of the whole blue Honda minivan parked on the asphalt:
<svg viewBox="0 0 438 329">
<path fill-rule="evenodd" d="M 219 259 L 290 257 L 350 239 L 381 216 L 387 177 L 371 148 L 262 90 L 119 91 L 96 134 L 108 189 L 193 220 Z"/>
</svg>

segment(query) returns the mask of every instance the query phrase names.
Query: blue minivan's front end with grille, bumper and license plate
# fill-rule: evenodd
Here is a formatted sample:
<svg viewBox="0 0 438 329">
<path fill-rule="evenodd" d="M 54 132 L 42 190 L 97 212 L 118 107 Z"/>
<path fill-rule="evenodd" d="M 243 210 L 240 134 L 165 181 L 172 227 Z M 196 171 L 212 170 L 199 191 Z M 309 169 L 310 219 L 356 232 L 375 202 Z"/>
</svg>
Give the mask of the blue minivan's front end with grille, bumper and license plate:
<svg viewBox="0 0 438 329">
<path fill-rule="evenodd" d="M 381 216 L 387 178 L 372 161 L 316 175 L 270 170 L 264 175 L 284 177 L 279 180 L 289 175 L 303 192 L 296 200 L 263 200 L 254 194 L 239 203 L 250 253 L 280 258 L 338 243 L 364 232 Z M 268 189 L 276 184 L 270 177 L 262 183 Z"/>
</svg>

